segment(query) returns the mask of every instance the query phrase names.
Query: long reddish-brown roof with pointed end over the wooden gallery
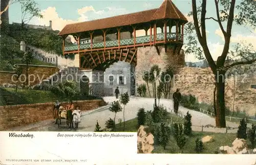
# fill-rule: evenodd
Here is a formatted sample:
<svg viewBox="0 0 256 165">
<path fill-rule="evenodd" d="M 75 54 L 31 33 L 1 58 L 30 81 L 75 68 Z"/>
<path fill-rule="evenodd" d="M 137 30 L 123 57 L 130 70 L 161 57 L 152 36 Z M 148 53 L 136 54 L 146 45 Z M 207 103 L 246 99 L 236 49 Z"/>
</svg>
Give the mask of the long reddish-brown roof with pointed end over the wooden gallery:
<svg viewBox="0 0 256 165">
<path fill-rule="evenodd" d="M 186 17 L 178 10 L 171 0 L 165 0 L 158 9 L 151 9 L 131 14 L 118 15 L 109 18 L 97 19 L 86 22 L 67 24 L 58 35 L 66 35 L 93 30 L 115 28 L 118 26 L 150 22 L 158 19 L 181 19 L 187 22 Z"/>
</svg>

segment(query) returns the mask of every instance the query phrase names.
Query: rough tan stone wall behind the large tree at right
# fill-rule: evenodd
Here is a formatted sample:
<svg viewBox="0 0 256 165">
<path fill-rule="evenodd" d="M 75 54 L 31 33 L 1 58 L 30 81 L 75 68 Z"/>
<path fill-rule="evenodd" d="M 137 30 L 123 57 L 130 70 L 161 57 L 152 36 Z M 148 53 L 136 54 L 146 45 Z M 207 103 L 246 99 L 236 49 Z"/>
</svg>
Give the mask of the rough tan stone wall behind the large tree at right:
<svg viewBox="0 0 256 165">
<path fill-rule="evenodd" d="M 212 104 L 214 94 L 214 84 L 212 74 L 209 68 L 181 68 L 179 74 L 175 75 L 175 83 L 173 90 L 177 88 L 182 94 L 195 95 L 200 102 Z M 255 75 L 247 75 L 244 82 L 237 85 L 237 92 L 234 97 L 234 110 L 245 111 L 249 115 L 254 115 L 256 111 L 256 89 L 251 89 L 251 83 L 256 82 Z M 226 79 L 226 106 L 231 109 L 233 100 L 233 78 Z"/>
</svg>

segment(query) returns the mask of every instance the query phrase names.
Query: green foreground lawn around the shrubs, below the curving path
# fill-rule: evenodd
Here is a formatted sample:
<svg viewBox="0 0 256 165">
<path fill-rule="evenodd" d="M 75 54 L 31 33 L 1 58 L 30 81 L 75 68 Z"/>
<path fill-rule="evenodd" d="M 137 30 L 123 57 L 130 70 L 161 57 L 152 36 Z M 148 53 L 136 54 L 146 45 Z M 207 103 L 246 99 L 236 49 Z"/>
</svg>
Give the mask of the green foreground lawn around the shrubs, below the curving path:
<svg viewBox="0 0 256 165">
<path fill-rule="evenodd" d="M 173 117 L 174 121 L 180 120 L 176 115 L 174 114 L 168 114 L 167 118 Z M 182 121 L 181 121 L 182 122 Z M 124 132 L 137 132 L 138 126 L 137 126 L 138 120 L 137 118 L 128 120 L 125 122 L 125 130 Z M 116 131 L 123 132 L 123 123 L 116 124 Z M 162 146 L 154 145 L 153 153 L 186 153 L 186 154 L 192 154 L 196 153 L 195 146 L 196 146 L 196 139 L 202 139 L 202 137 L 209 135 L 211 136 L 214 141 L 211 143 L 205 143 L 204 144 L 204 150 L 203 154 L 214 154 L 215 151 L 221 146 L 231 146 L 232 142 L 236 139 L 237 134 L 236 133 L 214 133 L 214 132 L 196 132 L 193 131 L 193 135 L 188 137 L 187 142 L 182 150 L 179 149 L 177 146 L 177 143 L 174 139 L 174 136 L 171 135 L 170 140 L 166 146 L 166 149 L 164 150 Z"/>
</svg>

